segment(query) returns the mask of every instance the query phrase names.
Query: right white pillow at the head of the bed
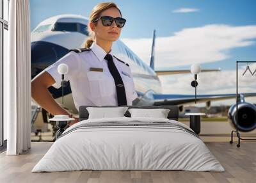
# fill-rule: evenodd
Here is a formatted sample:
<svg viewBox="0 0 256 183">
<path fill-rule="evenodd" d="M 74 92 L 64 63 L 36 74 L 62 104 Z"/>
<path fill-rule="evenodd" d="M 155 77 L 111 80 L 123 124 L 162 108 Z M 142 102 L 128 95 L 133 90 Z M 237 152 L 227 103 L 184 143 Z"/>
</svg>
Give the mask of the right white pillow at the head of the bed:
<svg viewBox="0 0 256 183">
<path fill-rule="evenodd" d="M 128 109 L 133 117 L 151 117 L 151 118 L 167 118 L 170 109 Z"/>
</svg>

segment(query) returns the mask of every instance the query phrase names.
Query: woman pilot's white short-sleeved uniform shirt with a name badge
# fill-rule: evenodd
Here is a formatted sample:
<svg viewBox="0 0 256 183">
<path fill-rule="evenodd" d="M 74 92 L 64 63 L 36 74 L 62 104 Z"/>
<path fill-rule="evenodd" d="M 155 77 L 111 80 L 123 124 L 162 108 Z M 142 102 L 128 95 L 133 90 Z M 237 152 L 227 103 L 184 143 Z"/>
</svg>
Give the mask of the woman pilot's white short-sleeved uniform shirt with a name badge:
<svg viewBox="0 0 256 183">
<path fill-rule="evenodd" d="M 90 51 L 74 52 L 70 51 L 60 60 L 45 68 L 56 83 L 55 88 L 61 87 L 61 75 L 58 73 L 58 65 L 65 63 L 68 65 L 68 73 L 64 80 L 70 81 L 74 104 L 79 110 L 79 106 L 118 106 L 115 80 L 108 69 L 108 61 L 104 59 L 106 51 L 93 42 Z M 112 51 L 109 52 L 113 56 Z M 138 97 L 131 68 L 122 61 L 118 61 L 113 56 L 113 62 L 120 76 L 122 77 L 127 105 L 132 105 L 132 100 Z M 103 68 L 103 72 L 90 71 L 90 68 Z"/>
</svg>

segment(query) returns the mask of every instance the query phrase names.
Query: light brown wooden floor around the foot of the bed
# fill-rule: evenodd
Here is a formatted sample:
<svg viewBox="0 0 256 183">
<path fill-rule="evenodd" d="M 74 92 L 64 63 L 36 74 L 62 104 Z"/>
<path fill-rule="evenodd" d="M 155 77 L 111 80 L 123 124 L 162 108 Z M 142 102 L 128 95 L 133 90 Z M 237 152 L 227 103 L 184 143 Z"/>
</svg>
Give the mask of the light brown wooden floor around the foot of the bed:
<svg viewBox="0 0 256 183">
<path fill-rule="evenodd" d="M 205 142 L 225 172 L 202 171 L 63 171 L 31 173 L 51 142 L 31 143 L 22 155 L 0 154 L 0 182 L 256 182 L 256 142 Z"/>
</svg>

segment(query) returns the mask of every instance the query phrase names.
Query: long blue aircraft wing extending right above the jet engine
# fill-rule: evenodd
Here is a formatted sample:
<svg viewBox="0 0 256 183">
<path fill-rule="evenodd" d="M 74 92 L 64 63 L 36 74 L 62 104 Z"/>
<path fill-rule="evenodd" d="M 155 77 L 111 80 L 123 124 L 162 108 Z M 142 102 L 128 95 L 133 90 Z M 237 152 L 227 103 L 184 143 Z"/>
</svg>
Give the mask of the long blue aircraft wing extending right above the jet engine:
<svg viewBox="0 0 256 183">
<path fill-rule="evenodd" d="M 154 106 L 169 106 L 180 104 L 195 104 L 195 95 L 177 95 L 177 94 L 152 94 Z M 243 97 L 256 97 L 256 93 L 239 93 Z M 212 100 L 236 99 L 234 94 L 216 94 L 216 95 L 196 95 L 196 103 L 208 102 Z"/>
</svg>

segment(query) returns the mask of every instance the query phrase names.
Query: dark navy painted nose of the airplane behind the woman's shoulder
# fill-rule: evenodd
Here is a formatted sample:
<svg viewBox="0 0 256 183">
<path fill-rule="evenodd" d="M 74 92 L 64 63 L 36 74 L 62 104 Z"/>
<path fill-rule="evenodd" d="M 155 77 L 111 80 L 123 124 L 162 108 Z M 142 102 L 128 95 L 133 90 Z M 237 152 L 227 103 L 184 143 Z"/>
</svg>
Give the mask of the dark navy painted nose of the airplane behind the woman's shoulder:
<svg viewBox="0 0 256 183">
<path fill-rule="evenodd" d="M 67 48 L 50 42 L 31 42 L 31 79 L 67 52 Z"/>
</svg>

